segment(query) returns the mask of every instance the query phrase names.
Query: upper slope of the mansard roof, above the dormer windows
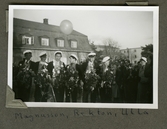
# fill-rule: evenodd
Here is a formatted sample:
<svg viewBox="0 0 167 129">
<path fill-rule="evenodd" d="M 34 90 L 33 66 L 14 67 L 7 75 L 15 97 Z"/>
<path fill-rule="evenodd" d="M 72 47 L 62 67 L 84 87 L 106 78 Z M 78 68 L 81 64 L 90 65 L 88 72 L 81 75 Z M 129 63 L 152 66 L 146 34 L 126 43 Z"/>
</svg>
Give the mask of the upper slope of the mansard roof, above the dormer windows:
<svg viewBox="0 0 167 129">
<path fill-rule="evenodd" d="M 34 21 L 28 21 L 28 20 L 19 19 L 19 18 L 14 18 L 14 26 L 20 26 L 20 27 L 33 28 L 33 29 L 44 30 L 44 31 L 52 31 L 52 32 L 62 33 L 60 31 L 59 26 L 45 24 L 45 23 L 39 23 L 39 22 L 34 22 Z M 70 35 L 86 36 L 86 35 L 78 32 L 76 30 L 73 30 Z"/>
</svg>

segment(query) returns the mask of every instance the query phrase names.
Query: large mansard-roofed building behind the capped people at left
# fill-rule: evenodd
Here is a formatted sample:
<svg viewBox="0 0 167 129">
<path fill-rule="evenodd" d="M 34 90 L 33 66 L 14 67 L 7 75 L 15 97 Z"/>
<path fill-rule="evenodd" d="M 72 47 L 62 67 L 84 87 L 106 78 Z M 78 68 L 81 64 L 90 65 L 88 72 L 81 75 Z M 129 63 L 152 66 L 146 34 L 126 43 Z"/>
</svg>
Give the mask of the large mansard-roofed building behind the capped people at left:
<svg viewBox="0 0 167 129">
<path fill-rule="evenodd" d="M 88 37 L 75 30 L 70 35 L 63 34 L 59 26 L 50 25 L 48 19 L 43 23 L 14 18 L 13 25 L 13 62 L 23 58 L 23 51 L 32 51 L 32 60 L 39 61 L 39 54 L 47 52 L 47 61 L 54 59 L 54 52 L 63 52 L 62 61 L 69 63 L 69 55 L 75 54 L 79 61 L 85 60 L 92 51 Z"/>
</svg>

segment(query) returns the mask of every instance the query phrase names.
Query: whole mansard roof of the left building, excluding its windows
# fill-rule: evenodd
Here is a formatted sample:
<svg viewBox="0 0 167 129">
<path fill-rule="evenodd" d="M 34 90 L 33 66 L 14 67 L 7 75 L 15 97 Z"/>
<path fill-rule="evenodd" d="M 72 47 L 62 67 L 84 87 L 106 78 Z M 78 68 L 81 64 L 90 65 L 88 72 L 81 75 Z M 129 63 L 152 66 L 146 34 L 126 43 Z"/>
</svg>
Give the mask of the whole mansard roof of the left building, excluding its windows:
<svg viewBox="0 0 167 129">
<path fill-rule="evenodd" d="M 34 36 L 34 45 L 23 45 L 21 43 L 22 39 L 20 35 L 24 34 Z M 49 38 L 49 46 L 41 46 L 39 37 L 44 36 Z M 57 47 L 56 39 L 64 39 L 65 46 Z M 77 41 L 77 48 L 71 48 L 71 40 Z M 60 31 L 59 26 L 14 18 L 14 48 L 20 47 L 36 50 L 92 51 L 88 37 L 75 30 L 73 30 L 73 32 L 67 36 Z"/>
</svg>

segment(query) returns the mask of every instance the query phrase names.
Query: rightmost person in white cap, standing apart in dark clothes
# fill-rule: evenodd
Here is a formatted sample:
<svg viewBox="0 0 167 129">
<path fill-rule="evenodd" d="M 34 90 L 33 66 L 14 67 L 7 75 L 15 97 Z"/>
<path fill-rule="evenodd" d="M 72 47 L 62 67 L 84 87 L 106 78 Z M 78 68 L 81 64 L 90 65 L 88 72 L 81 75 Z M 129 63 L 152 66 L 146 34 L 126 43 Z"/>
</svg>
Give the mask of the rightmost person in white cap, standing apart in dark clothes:
<svg viewBox="0 0 167 129">
<path fill-rule="evenodd" d="M 147 58 L 142 57 L 140 63 L 141 63 L 141 67 L 139 69 L 140 81 L 138 83 L 137 103 L 146 103 L 148 78 L 145 76 L 144 71 L 147 63 Z"/>
</svg>

